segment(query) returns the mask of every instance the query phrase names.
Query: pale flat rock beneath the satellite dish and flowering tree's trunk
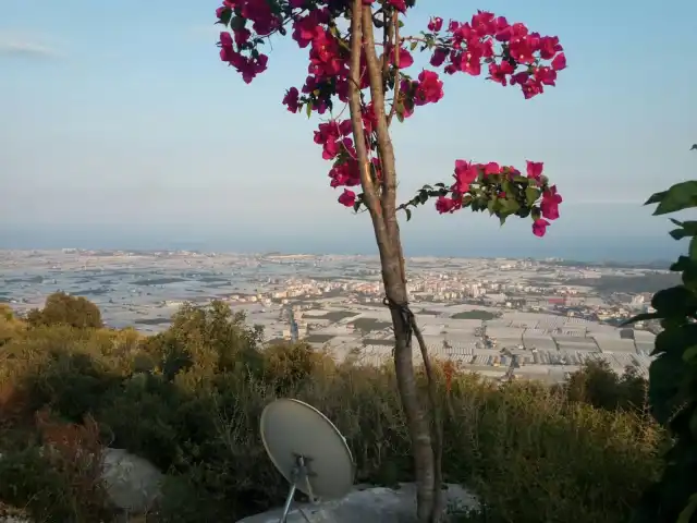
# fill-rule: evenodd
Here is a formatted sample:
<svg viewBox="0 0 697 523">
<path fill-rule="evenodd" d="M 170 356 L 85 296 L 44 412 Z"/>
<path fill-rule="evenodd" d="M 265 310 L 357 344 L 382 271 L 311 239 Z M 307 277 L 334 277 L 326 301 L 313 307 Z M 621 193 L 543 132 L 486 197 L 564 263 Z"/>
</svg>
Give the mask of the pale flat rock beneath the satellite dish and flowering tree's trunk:
<svg viewBox="0 0 697 523">
<path fill-rule="evenodd" d="M 477 498 L 460 485 L 447 485 L 445 513 L 478 512 Z M 298 508 L 302 510 L 298 510 Z M 278 523 L 283 509 L 250 515 L 237 523 Z M 305 516 L 303 516 L 303 513 Z M 288 523 L 411 523 L 416 521 L 416 486 L 401 484 L 399 489 L 372 487 L 354 489 L 340 500 L 318 504 L 293 504 Z"/>
</svg>

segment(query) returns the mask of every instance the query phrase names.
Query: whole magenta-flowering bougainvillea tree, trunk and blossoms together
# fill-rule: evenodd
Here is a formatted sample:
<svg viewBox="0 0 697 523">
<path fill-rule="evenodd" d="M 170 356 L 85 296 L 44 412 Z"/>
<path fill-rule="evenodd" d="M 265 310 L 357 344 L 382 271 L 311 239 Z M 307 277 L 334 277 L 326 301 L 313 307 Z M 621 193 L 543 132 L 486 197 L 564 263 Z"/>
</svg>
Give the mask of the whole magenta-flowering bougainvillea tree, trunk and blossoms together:
<svg viewBox="0 0 697 523">
<path fill-rule="evenodd" d="M 380 254 L 384 304 L 394 329 L 394 367 L 409 429 L 417 484 L 417 519 L 435 522 L 442 511 L 442 423 L 436 404 L 432 366 L 414 314 L 408 308 L 406 273 L 396 211 L 407 221 L 412 210 L 436 198 L 443 212 L 469 208 L 488 211 L 503 224 L 511 216 L 531 218 L 533 233 L 543 236 L 549 220 L 559 218 L 562 197 L 542 174 L 543 163 L 527 161 L 526 175 L 493 161 L 455 161 L 454 183 L 424 187 L 396 205 L 396 161 L 390 125 L 403 122 L 417 107 L 443 98 L 445 74 L 463 72 L 500 85 L 518 85 L 525 98 L 553 86 L 566 57 L 558 37 L 530 32 L 522 23 L 478 11 L 470 22 L 431 17 L 419 36 L 401 35 L 401 19 L 415 0 L 223 0 L 216 11 L 220 58 L 246 83 L 267 69 L 269 57 L 259 49 L 288 26 L 301 48 L 309 48 L 308 73 L 301 89 L 291 87 L 282 104 L 293 113 L 313 112 L 329 119 L 315 131 L 322 158 L 332 161 L 332 187 L 344 187 L 339 203 L 356 212 L 365 209 Z M 376 36 L 377 29 L 377 36 Z M 407 70 L 416 49 L 430 54 L 430 69 L 416 78 Z M 341 107 L 343 105 L 343 107 Z M 348 118 L 342 119 L 345 109 Z M 356 193 L 348 187 L 360 186 Z M 415 336 L 413 336 L 415 335 Z M 413 367 L 413 339 L 424 360 L 429 409 L 424 410 Z"/>
</svg>

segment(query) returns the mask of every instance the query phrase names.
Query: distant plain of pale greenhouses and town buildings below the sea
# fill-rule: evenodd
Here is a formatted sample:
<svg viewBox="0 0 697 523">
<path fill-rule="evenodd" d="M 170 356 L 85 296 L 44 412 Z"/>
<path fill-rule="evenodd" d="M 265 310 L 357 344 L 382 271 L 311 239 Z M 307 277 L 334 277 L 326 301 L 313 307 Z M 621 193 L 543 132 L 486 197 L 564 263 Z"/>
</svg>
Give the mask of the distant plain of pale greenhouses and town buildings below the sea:
<svg viewBox="0 0 697 523">
<path fill-rule="evenodd" d="M 650 312 L 678 281 L 659 266 L 561 259 L 409 258 L 409 300 L 433 357 L 503 379 L 558 382 L 589 358 L 646 375 L 659 327 Z M 185 302 L 244 311 L 266 340 L 302 340 L 338 361 L 391 357 L 390 313 L 370 256 L 126 251 L 0 251 L 0 302 L 19 314 L 63 291 L 85 296 L 107 326 L 154 333 Z M 418 358 L 418 351 L 415 351 Z"/>
</svg>

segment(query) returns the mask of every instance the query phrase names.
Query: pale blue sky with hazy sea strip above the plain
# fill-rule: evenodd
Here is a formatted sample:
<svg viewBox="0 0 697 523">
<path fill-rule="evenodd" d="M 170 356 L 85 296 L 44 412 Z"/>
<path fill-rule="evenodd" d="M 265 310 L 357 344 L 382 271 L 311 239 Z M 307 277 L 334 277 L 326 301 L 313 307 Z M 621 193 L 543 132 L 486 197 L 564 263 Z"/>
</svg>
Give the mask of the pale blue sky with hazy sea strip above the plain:
<svg viewBox="0 0 697 523">
<path fill-rule="evenodd" d="M 304 82 L 307 50 L 274 39 L 269 70 L 246 85 L 218 58 L 217 7 L 0 0 L 0 247 L 375 251 L 367 215 L 329 186 L 318 120 L 281 105 Z M 476 9 L 559 36 L 568 69 L 531 100 L 484 77 L 447 77 L 441 102 L 394 127 L 400 197 L 449 181 L 455 159 L 530 159 L 557 183 L 562 216 L 538 239 L 529 220 L 500 228 L 427 206 L 402 226 L 407 253 L 685 248 L 641 204 L 695 173 L 697 3 L 418 0 L 403 34 Z"/>
</svg>

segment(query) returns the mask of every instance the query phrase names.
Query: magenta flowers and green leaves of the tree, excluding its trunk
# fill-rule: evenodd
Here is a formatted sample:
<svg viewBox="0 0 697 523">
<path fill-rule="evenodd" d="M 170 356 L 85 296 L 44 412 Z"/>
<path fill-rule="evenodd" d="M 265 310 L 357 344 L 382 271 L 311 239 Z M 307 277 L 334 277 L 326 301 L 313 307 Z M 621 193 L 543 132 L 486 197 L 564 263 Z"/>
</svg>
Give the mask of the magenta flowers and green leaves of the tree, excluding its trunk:
<svg viewBox="0 0 697 523">
<path fill-rule="evenodd" d="M 362 1 L 357 5 L 366 11 L 363 27 L 354 28 L 352 20 L 356 2 L 348 0 L 224 0 L 217 11 L 218 23 L 229 28 L 220 34 L 220 58 L 235 68 L 246 83 L 250 83 L 267 69 L 268 56 L 260 51 L 273 35 L 285 35 L 292 26 L 292 37 L 298 47 L 309 47 L 309 76 L 301 89 L 291 87 L 283 105 L 294 113 L 313 112 L 328 121 L 319 124 L 315 143 L 322 146 L 322 158 L 333 160 L 329 178 L 332 187 L 346 187 L 339 202 L 356 211 L 369 205 L 370 187 L 386 182 L 383 171 L 387 158 L 380 151 L 381 125 L 384 130 L 393 117 L 399 121 L 409 118 L 417 107 L 436 104 L 443 97 L 443 82 L 437 70 L 452 75 L 457 72 L 479 76 L 482 69 L 499 85 L 517 85 L 525 98 L 533 98 L 553 86 L 557 73 L 566 68 L 566 58 L 558 37 L 540 36 L 522 23 L 509 23 L 503 16 L 478 11 L 469 22 L 451 21 L 443 24 L 431 17 L 427 31 L 418 36 L 400 34 L 406 11 L 414 1 Z M 362 5 L 363 4 L 363 5 Z M 359 15 L 360 13 L 358 13 Z M 369 26 L 365 24 L 369 20 Z M 342 24 L 342 22 L 344 22 Z M 347 25 L 346 29 L 342 27 Z M 372 25 L 383 31 L 383 38 L 374 40 Z M 352 77 L 352 36 L 357 29 L 363 35 L 358 47 L 360 60 L 355 82 Z M 377 49 L 381 56 L 375 54 Z M 407 74 L 415 63 L 412 53 L 428 52 L 432 70 L 423 70 L 418 77 Z M 371 75 L 371 54 L 379 65 L 378 84 Z M 359 114 L 350 106 L 352 84 L 357 84 Z M 370 101 L 366 101 L 368 88 Z M 389 98 L 391 96 L 391 98 Z M 386 108 L 384 100 L 391 102 Z M 338 106 L 343 105 L 341 109 Z M 352 119 L 341 119 L 350 107 L 357 117 L 359 129 Z M 369 175 L 362 179 L 360 148 L 365 142 L 370 162 Z M 474 211 L 488 210 L 500 218 L 531 217 L 536 235 L 543 235 L 548 220 L 559 217 L 562 202 L 555 186 L 542 175 L 542 162 L 527 161 L 526 174 L 497 162 L 477 163 L 457 160 L 454 183 L 436 183 L 424 187 L 409 202 L 400 206 L 412 216 L 412 208 L 437 198 L 439 212 L 453 212 L 469 207 Z M 356 195 L 347 187 L 360 185 Z M 378 187 L 379 188 L 379 187 Z M 384 191 L 383 191 L 384 192 Z M 540 199 L 541 198 L 541 199 Z"/>
</svg>

